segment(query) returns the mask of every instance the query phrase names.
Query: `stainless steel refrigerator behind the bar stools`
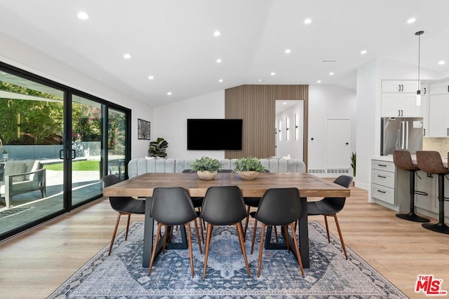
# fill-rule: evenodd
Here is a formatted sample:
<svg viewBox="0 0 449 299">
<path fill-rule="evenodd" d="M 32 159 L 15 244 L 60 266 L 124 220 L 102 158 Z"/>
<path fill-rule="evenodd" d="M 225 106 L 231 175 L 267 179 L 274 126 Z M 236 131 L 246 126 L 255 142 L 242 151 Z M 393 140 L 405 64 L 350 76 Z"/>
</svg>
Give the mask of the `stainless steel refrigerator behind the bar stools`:
<svg viewBox="0 0 449 299">
<path fill-rule="evenodd" d="M 422 118 L 382 118 L 381 126 L 380 155 L 393 155 L 395 149 L 422 150 Z"/>
</svg>

